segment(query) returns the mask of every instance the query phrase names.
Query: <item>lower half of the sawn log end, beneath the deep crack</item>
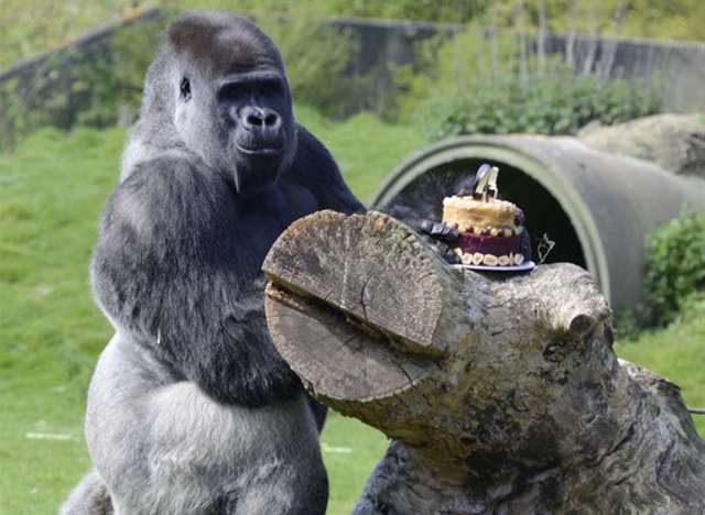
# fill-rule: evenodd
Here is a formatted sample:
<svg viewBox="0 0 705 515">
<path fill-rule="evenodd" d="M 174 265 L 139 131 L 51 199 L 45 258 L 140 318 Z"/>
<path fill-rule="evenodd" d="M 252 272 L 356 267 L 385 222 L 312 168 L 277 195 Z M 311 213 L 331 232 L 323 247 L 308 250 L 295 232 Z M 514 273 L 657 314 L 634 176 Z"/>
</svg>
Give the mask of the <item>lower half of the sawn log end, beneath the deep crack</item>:
<svg viewBox="0 0 705 515">
<path fill-rule="evenodd" d="M 280 354 L 318 399 L 340 406 L 390 396 L 429 373 L 429 357 L 398 350 L 399 340 L 322 300 L 270 284 L 267 321 Z"/>
</svg>

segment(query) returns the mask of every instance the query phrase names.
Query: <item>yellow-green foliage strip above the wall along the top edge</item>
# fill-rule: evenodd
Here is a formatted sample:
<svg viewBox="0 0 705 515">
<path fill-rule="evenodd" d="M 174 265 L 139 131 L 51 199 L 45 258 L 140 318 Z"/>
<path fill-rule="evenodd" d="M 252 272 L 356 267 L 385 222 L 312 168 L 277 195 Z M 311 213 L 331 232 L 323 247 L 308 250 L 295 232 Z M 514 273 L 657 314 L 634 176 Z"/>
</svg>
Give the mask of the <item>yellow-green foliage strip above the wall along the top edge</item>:
<svg viewBox="0 0 705 515">
<path fill-rule="evenodd" d="M 556 32 L 615 33 L 614 14 L 627 4 L 622 35 L 705 40 L 702 0 L 528 0 L 525 25 L 538 28 L 545 3 L 547 29 Z M 305 10 L 322 17 L 367 17 L 426 22 L 468 23 L 492 14 L 506 24 L 516 13 L 516 0 L 3 0 L 0 9 L 0 69 L 17 59 L 55 48 L 87 30 L 117 17 L 131 15 L 142 6 L 173 10 L 221 9 L 236 12 L 291 14 Z"/>
</svg>

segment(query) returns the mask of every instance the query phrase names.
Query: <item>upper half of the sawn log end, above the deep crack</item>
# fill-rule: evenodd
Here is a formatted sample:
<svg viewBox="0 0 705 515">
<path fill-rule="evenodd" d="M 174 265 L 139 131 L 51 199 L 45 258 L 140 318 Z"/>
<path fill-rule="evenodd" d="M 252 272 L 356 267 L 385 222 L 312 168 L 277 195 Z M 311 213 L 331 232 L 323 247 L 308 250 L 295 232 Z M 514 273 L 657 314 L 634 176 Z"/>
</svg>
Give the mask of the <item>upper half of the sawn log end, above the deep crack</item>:
<svg viewBox="0 0 705 515">
<path fill-rule="evenodd" d="M 414 353 L 441 355 L 444 263 L 401 222 L 382 213 L 322 211 L 276 241 L 263 270 L 272 283 L 325 300 L 400 337 Z M 457 278 L 456 278 L 457 281 Z"/>
</svg>

